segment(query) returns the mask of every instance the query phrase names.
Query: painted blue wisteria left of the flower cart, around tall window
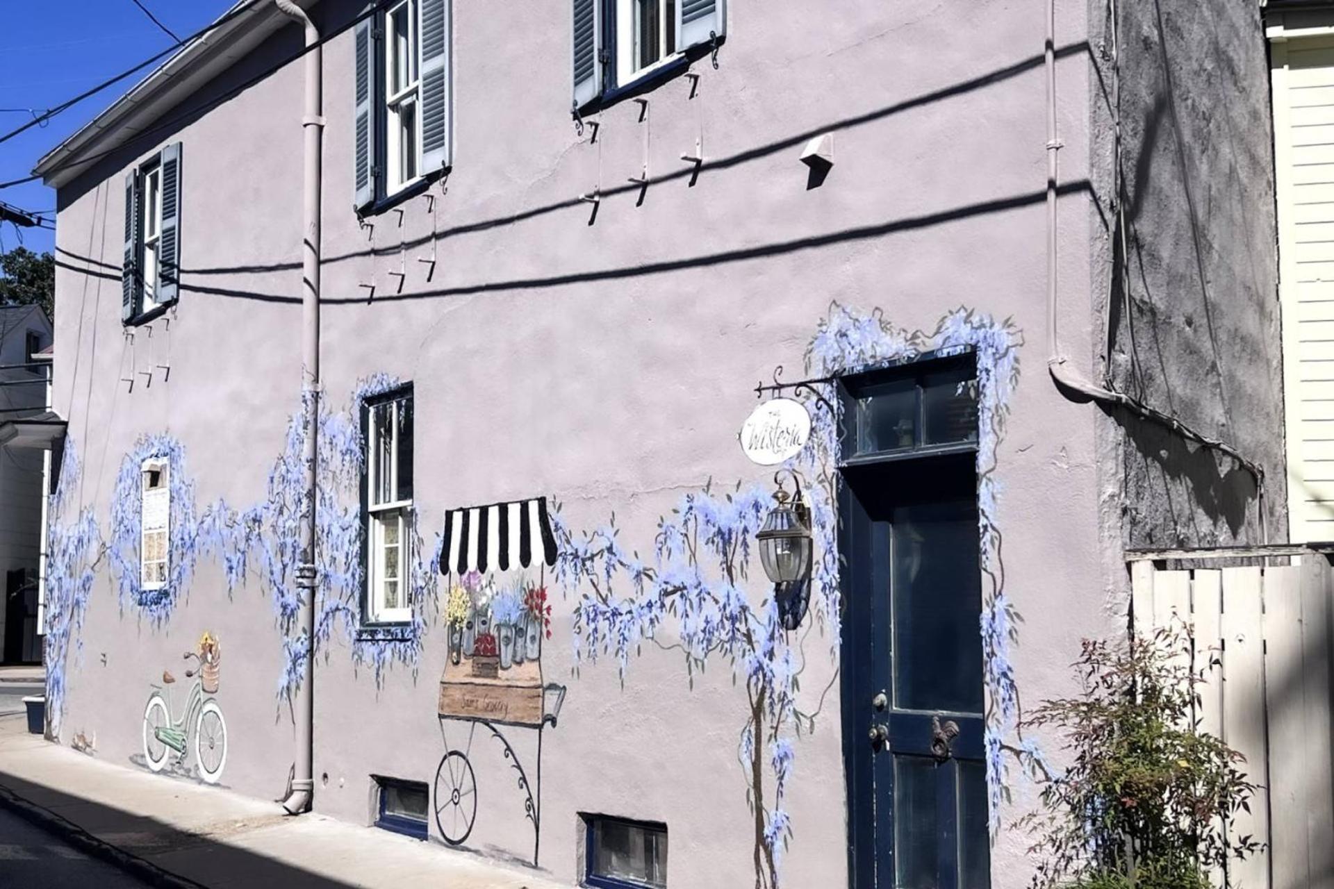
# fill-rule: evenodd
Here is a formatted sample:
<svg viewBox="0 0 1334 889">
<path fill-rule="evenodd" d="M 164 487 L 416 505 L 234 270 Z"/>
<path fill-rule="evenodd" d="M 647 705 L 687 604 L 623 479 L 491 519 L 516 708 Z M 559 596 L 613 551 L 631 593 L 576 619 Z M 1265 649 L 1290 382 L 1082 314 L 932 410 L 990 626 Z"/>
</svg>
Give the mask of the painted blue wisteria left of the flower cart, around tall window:
<svg viewBox="0 0 1334 889">
<path fill-rule="evenodd" d="M 436 588 L 439 540 L 432 548 L 426 545 L 419 516 L 414 510 L 411 576 L 407 584 L 411 621 L 394 628 L 360 625 L 364 582 L 358 494 L 364 461 L 360 415 L 367 399 L 399 385 L 399 380 L 386 375 L 368 377 L 358 384 L 344 411 L 332 412 L 321 400 L 319 417 L 316 534 L 320 546 L 315 645 L 319 650 L 335 636 L 343 638 L 354 664 L 368 666 L 376 682 L 383 681 L 392 664 L 416 666 Z M 269 470 L 264 500 L 245 508 L 235 508 L 219 498 L 197 509 L 184 445 L 168 435 L 141 436 L 121 460 L 105 538 L 91 508 L 69 514 L 69 492 L 77 485 L 80 465 L 73 439 L 65 440 L 60 484 L 51 504 L 48 538 L 47 660 L 52 665 L 48 670 L 48 713 L 53 714 L 55 722 L 59 722 L 64 705 L 64 665 L 69 646 L 77 646 L 95 569 L 104 556 L 109 561 L 121 609 L 141 616 L 155 628 L 164 628 L 188 594 L 201 557 L 215 558 L 221 565 L 228 596 L 248 581 L 256 581 L 272 602 L 283 646 L 276 694 L 279 701 L 291 698 L 304 678 L 309 645 L 304 630 L 296 625 L 301 596 L 296 585 L 299 522 L 308 501 L 301 470 L 301 416 L 297 411 L 288 420 L 284 448 Z M 167 468 L 169 497 L 167 573 L 164 582 L 153 586 L 143 582 L 140 570 L 145 461 Z"/>
</svg>

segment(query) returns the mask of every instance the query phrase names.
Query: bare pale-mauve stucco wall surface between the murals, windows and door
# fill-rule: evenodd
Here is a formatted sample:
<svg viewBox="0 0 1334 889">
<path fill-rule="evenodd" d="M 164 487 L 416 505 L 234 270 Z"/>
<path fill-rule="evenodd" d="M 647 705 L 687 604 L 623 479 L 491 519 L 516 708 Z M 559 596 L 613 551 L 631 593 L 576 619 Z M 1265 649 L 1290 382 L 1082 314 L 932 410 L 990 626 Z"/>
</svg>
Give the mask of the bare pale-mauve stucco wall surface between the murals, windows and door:
<svg viewBox="0 0 1334 889">
<path fill-rule="evenodd" d="M 321 23 L 355 5 L 324 3 Z M 1063 175 L 1087 176 L 1086 5 L 1062 1 Z M 775 365 L 795 379 L 828 303 L 879 308 L 896 325 L 932 331 L 966 305 L 1013 317 L 1026 335 L 996 478 L 1007 589 L 1026 617 L 1011 653 L 1025 700 L 1070 689 L 1082 636 L 1117 621 L 1085 590 L 1099 561 L 1095 413 L 1063 400 L 1045 373 L 1045 83 L 1042 4 L 947 0 L 850 4 L 812 20 L 810 4 L 731 4 L 720 68 L 707 61 L 699 97 L 688 83 L 650 93 L 650 172 L 680 168 L 704 128 L 719 161 L 686 177 L 603 201 L 595 221 L 574 197 L 639 172 L 636 108 L 602 115 L 600 144 L 568 117 L 568 4 L 507 7 L 458 0 L 454 9 L 455 169 L 362 229 L 351 212 L 350 36 L 325 49 L 323 360 L 343 409 L 358 379 L 415 381 L 416 501 L 430 541 L 454 506 L 552 494 L 572 528 L 615 512 L 628 546 L 647 552 L 658 516 L 708 478 L 767 481 L 736 446 L 752 387 Z M 288 28 L 221 91 L 289 52 Z M 263 498 L 285 423 L 297 407 L 300 311 L 301 76 L 289 67 L 240 97 L 193 115 L 163 141 L 183 149 L 180 305 L 124 336 L 120 249 L 124 152 L 61 189 L 57 277 L 61 341 L 56 397 L 83 460 L 76 502 L 107 526 L 117 468 L 136 439 L 167 432 L 187 449 L 200 505 Z M 807 189 L 798 155 L 835 132 L 835 165 Z M 1062 200 L 1082 220 L 1087 196 Z M 426 280 L 419 257 L 439 265 Z M 423 240 L 426 239 L 426 241 Z M 400 252 L 400 244 L 408 244 Z M 1089 312 L 1089 236 L 1062 229 L 1066 348 L 1087 355 L 1101 329 Z M 403 293 L 391 276 L 406 261 Z M 85 259 L 77 259 L 85 257 Z M 367 301 L 360 284 L 374 283 Z M 287 301 L 284 301 L 287 300 Z M 119 380 L 164 363 L 171 375 L 129 391 Z M 1059 505 L 1058 508 L 1054 508 Z M 751 590 L 758 601 L 764 590 Z M 678 652 L 646 648 L 622 685 L 614 664 L 570 656 L 572 600 L 556 598 L 548 677 L 568 682 L 560 725 L 544 738 L 543 866 L 574 878 L 578 812 L 666 821 L 674 885 L 739 886 L 751 873 L 751 818 L 736 762 L 744 693 L 724 665 L 694 686 Z M 563 609 L 563 613 L 562 613 Z M 68 662 L 61 737 L 96 733 L 97 754 L 139 754 L 148 684 L 201 630 L 224 648 L 220 700 L 232 748 L 224 781 L 277 796 L 292 750 L 276 704 L 279 632 L 257 582 L 228 596 L 200 562 L 171 620 L 155 626 L 117 604 L 105 573 L 88 606 L 84 654 Z M 664 644 L 670 640 L 659 640 Z M 831 640 L 811 633 L 803 709 L 834 678 Z M 446 637 L 432 618 L 415 669 L 378 686 L 342 638 L 317 660 L 316 809 L 370 818 L 370 774 L 430 781 L 443 752 L 436 680 Z M 796 742 L 790 789 L 791 886 L 844 882 L 844 792 L 831 688 L 814 734 Z M 527 750 L 531 738 L 519 742 Z M 478 745 L 487 744 L 479 738 Z M 523 856 L 528 825 L 499 752 L 479 782 L 491 789 L 470 841 Z M 479 760 L 480 761 L 480 760 Z M 328 776 L 327 784 L 324 776 Z M 1014 769 L 1017 800 L 1031 785 Z M 510 794 L 506 794 L 506 789 Z M 1006 812 L 1009 816 L 1011 812 Z M 998 888 L 1027 884 L 1027 841 L 1002 832 Z"/>
</svg>

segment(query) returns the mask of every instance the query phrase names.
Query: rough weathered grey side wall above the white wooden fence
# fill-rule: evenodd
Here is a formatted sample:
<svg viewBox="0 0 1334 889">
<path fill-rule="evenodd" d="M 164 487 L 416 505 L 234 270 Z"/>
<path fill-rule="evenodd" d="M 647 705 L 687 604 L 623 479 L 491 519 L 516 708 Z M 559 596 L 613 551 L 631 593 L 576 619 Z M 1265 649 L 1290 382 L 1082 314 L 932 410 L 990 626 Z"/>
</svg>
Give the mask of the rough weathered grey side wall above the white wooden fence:
<svg viewBox="0 0 1334 889">
<path fill-rule="evenodd" d="M 1102 486 L 1107 521 L 1122 530 L 1110 541 L 1283 541 L 1273 123 L 1258 4 L 1115 4 L 1125 257 L 1114 212 L 1118 99 L 1109 5 L 1090 3 L 1102 84 L 1093 101 L 1093 165 L 1109 216 L 1106 227 L 1091 227 L 1094 299 L 1107 319 L 1095 361 L 1110 365 L 1122 392 L 1265 468 L 1261 509 L 1250 473 L 1234 460 L 1113 412 L 1101 427 Z"/>
</svg>

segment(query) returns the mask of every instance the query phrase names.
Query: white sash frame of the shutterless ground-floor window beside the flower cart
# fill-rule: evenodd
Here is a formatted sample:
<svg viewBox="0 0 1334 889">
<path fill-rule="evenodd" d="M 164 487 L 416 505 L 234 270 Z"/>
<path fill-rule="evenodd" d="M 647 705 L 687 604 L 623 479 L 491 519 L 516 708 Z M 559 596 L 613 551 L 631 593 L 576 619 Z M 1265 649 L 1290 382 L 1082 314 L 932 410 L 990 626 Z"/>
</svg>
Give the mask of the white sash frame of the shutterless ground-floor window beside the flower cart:
<svg viewBox="0 0 1334 889">
<path fill-rule="evenodd" d="M 367 405 L 367 448 L 366 448 L 366 509 L 367 509 L 367 613 L 372 622 L 375 624 L 407 624 L 412 620 L 412 606 L 407 604 L 408 601 L 408 580 L 411 576 L 411 554 L 412 554 L 412 500 L 399 500 L 398 485 L 399 485 L 399 429 L 402 424 L 402 405 L 411 396 L 396 397 L 388 401 L 380 401 L 376 404 Z M 376 423 L 376 411 L 383 408 L 394 409 L 394 421 L 391 424 L 392 440 L 390 441 L 390 478 L 388 490 L 394 500 L 379 502 L 376 496 L 379 492 L 379 448 L 380 448 L 380 428 Z M 404 605 L 399 608 L 386 608 L 384 602 L 384 584 L 387 580 L 384 576 L 384 544 L 383 533 L 384 524 L 388 521 L 390 516 L 395 516 L 398 520 L 399 530 L 399 573 L 394 580 L 399 584 L 399 601 Z"/>
</svg>

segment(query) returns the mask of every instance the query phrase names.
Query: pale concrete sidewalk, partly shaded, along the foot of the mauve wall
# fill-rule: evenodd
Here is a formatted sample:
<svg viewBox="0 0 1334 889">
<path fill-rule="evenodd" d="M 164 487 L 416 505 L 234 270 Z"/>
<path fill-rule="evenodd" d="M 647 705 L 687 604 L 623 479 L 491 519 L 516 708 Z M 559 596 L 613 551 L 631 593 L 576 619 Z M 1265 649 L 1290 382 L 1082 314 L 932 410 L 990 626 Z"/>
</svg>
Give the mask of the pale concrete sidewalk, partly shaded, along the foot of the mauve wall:
<svg viewBox="0 0 1334 889">
<path fill-rule="evenodd" d="M 532 872 L 48 744 L 0 718 L 0 805 L 155 885 L 564 889 Z M 3 868 L 0 868 L 3 873 Z"/>
</svg>

